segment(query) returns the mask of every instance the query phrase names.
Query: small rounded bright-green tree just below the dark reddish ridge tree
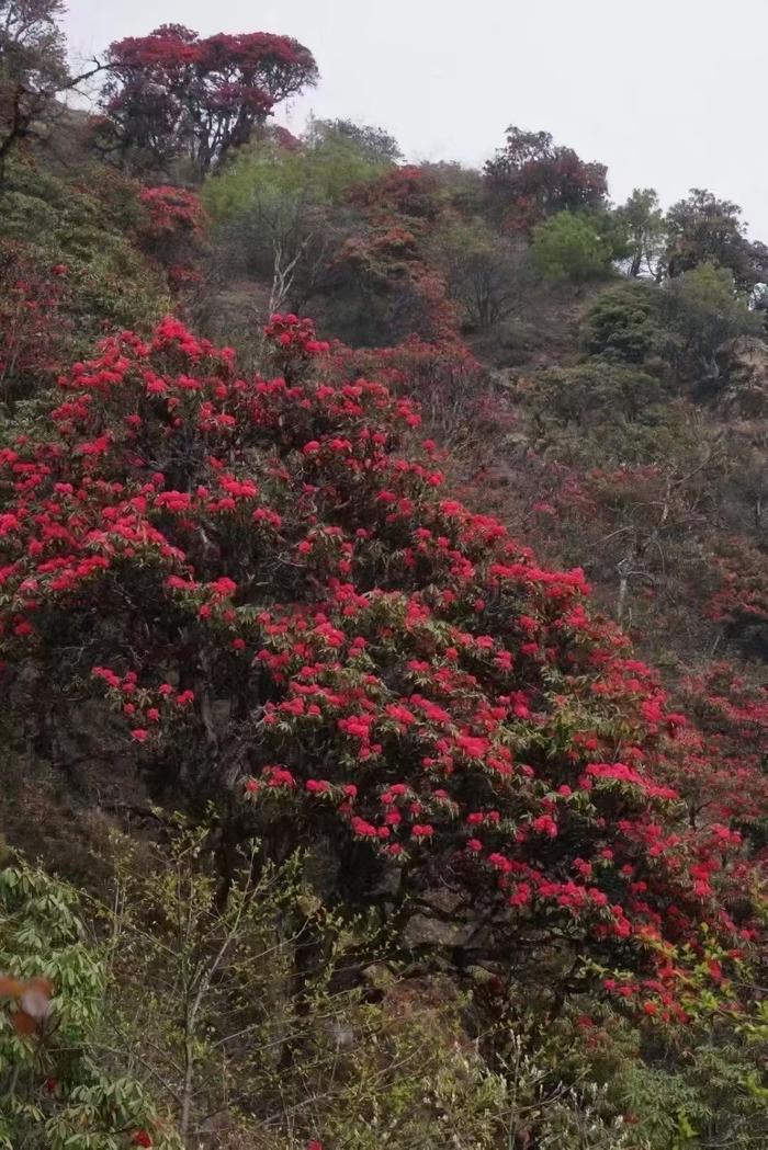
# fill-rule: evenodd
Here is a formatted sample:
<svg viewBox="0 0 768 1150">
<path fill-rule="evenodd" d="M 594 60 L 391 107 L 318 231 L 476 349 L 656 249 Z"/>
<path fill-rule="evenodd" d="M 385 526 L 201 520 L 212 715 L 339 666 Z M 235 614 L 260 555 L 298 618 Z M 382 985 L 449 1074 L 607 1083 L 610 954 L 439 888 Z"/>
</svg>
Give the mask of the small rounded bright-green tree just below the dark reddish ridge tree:
<svg viewBox="0 0 768 1150">
<path fill-rule="evenodd" d="M 543 275 L 580 284 L 604 275 L 622 254 L 604 217 L 558 212 L 533 230 L 533 260 Z"/>
</svg>

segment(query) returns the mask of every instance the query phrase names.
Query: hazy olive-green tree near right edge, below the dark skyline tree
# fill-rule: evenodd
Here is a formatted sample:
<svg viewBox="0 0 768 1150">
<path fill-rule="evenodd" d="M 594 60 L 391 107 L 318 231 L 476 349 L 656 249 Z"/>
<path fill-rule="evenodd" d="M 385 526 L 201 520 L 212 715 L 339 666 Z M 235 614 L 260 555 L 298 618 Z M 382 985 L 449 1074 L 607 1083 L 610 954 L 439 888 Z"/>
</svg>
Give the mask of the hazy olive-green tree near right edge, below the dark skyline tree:
<svg viewBox="0 0 768 1150">
<path fill-rule="evenodd" d="M 756 332 L 761 316 L 750 310 L 730 268 L 701 263 L 672 279 L 664 292 L 664 315 L 677 340 L 682 370 L 709 378 L 721 374 L 718 353 L 738 336 Z"/>
</svg>

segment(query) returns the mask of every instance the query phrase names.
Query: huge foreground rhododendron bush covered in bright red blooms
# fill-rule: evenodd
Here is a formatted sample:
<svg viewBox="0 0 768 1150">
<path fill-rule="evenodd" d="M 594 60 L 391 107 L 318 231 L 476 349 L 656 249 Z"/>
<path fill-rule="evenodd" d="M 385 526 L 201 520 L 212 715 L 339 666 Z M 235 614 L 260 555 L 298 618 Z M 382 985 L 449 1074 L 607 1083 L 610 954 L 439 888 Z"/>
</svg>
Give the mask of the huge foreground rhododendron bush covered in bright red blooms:
<svg viewBox="0 0 768 1150">
<path fill-rule="evenodd" d="M 109 338 L 0 452 L 6 718 L 54 761 L 88 726 L 233 844 L 312 845 L 425 961 L 584 986 L 588 959 L 684 1019 L 701 925 L 714 987 L 755 936 L 739 831 L 670 785 L 685 720 L 580 570 L 443 490 L 409 400 L 309 321 L 267 337 L 252 379 L 173 319 Z"/>
</svg>

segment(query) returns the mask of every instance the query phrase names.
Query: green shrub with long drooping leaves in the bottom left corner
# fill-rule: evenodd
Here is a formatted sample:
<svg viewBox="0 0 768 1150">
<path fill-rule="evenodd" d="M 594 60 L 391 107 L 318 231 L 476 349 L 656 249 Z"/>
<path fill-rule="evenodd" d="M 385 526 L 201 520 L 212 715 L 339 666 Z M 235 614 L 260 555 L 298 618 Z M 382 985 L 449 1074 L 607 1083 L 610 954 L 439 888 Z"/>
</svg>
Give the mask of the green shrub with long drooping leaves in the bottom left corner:
<svg viewBox="0 0 768 1150">
<path fill-rule="evenodd" d="M 0 1147 L 124 1150 L 134 1136 L 136 1145 L 181 1150 L 126 1073 L 127 1052 L 117 1070 L 100 1045 L 107 969 L 75 891 L 23 862 L 0 869 L 0 969 L 47 979 L 54 990 L 38 1034 L 17 1033 L 1 1009 Z"/>
</svg>

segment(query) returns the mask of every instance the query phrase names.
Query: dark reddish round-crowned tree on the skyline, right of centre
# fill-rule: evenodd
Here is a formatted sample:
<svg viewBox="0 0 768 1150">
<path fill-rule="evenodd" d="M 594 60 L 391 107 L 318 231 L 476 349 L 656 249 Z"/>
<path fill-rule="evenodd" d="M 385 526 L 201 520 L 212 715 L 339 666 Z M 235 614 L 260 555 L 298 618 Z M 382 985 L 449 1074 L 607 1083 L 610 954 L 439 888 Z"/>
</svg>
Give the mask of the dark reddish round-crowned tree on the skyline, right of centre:
<svg viewBox="0 0 768 1150">
<path fill-rule="evenodd" d="M 598 207 L 608 185 L 602 163 L 585 163 L 549 132 L 507 129 L 507 144 L 485 166 L 496 213 L 509 227 L 529 230 L 556 212 Z"/>
</svg>

